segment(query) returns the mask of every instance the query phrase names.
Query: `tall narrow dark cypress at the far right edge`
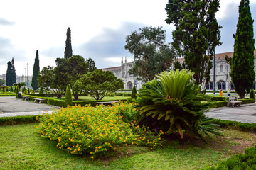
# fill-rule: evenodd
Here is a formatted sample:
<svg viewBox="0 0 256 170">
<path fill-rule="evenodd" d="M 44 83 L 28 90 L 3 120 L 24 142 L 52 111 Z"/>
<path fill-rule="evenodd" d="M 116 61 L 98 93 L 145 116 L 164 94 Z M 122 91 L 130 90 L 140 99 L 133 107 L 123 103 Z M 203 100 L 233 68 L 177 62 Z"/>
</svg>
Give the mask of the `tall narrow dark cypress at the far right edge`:
<svg viewBox="0 0 256 170">
<path fill-rule="evenodd" d="M 231 60 L 230 76 L 235 91 L 240 98 L 245 98 L 255 80 L 253 20 L 249 0 L 241 0 L 239 18 L 235 35 L 234 53 Z"/>
</svg>

